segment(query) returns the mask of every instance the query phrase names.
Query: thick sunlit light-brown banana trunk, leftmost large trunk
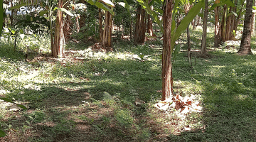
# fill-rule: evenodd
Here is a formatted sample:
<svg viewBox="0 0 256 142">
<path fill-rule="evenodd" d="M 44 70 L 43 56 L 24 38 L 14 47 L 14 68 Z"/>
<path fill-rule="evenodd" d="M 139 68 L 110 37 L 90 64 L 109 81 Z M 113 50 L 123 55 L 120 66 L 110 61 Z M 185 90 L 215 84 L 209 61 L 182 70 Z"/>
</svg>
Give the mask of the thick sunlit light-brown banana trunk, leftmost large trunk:
<svg viewBox="0 0 256 142">
<path fill-rule="evenodd" d="M 63 0 L 58 1 L 58 8 L 62 8 L 64 4 Z M 65 54 L 65 37 L 63 33 L 63 12 L 58 10 L 55 21 L 55 34 L 53 43 L 53 57 L 62 57 Z"/>
</svg>

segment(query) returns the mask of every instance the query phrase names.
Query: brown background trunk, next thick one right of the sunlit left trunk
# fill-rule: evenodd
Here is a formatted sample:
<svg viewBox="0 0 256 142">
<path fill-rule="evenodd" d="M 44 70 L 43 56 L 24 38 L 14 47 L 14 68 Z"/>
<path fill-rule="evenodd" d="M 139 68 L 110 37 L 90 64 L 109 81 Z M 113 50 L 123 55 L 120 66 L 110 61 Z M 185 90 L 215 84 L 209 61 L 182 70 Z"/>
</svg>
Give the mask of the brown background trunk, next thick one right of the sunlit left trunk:
<svg viewBox="0 0 256 142">
<path fill-rule="evenodd" d="M 110 48 L 112 47 L 111 36 L 112 36 L 112 15 L 109 11 L 106 11 L 105 25 L 104 25 L 104 31 L 102 36 L 102 46 L 110 47 Z"/>
</svg>

